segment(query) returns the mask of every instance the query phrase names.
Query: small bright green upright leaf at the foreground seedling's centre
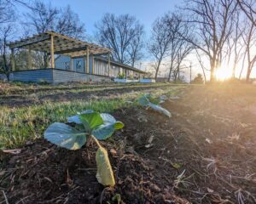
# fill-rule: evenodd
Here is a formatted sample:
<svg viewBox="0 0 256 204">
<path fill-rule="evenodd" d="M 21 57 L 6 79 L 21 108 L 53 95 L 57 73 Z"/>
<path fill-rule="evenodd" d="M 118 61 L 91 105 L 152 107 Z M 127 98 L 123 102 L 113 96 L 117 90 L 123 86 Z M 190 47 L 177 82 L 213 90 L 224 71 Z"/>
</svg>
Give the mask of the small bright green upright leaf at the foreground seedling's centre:
<svg viewBox="0 0 256 204">
<path fill-rule="evenodd" d="M 84 124 L 84 127 L 92 130 L 103 124 L 103 119 L 100 113 L 90 112 L 79 115 L 80 121 Z"/>
</svg>

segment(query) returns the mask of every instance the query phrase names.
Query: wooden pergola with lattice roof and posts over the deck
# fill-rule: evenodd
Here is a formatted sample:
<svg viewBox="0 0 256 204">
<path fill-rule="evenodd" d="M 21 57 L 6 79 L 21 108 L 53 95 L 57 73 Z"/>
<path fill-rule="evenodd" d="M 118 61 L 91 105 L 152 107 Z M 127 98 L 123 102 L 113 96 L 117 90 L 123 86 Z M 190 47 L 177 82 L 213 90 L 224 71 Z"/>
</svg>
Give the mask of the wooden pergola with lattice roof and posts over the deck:
<svg viewBox="0 0 256 204">
<path fill-rule="evenodd" d="M 27 68 L 32 67 L 31 52 L 40 51 L 50 55 L 51 68 L 55 68 L 55 54 L 65 54 L 72 58 L 83 56 L 86 60 L 86 72 L 89 73 L 89 56 L 108 54 L 108 65 L 110 66 L 110 53 L 109 48 L 100 47 L 94 43 L 83 42 L 73 37 L 67 37 L 56 33 L 54 31 L 46 31 L 44 33 L 21 39 L 20 41 L 10 42 L 9 48 L 11 49 L 11 66 L 12 71 L 15 71 L 15 48 L 25 48 L 28 50 Z M 49 60 L 47 60 L 49 61 Z M 84 60 L 85 62 L 85 60 Z"/>
</svg>

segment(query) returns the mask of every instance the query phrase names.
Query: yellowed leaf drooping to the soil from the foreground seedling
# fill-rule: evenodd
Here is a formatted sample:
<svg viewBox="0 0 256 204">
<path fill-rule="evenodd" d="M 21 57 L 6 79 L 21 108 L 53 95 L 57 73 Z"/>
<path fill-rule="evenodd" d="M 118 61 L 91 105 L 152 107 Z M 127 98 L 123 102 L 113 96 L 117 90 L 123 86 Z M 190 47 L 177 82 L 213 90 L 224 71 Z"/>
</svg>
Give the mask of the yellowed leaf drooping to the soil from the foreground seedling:
<svg viewBox="0 0 256 204">
<path fill-rule="evenodd" d="M 108 151 L 102 146 L 96 151 L 97 173 L 96 178 L 99 183 L 107 186 L 114 186 L 113 170 L 108 159 Z"/>
</svg>

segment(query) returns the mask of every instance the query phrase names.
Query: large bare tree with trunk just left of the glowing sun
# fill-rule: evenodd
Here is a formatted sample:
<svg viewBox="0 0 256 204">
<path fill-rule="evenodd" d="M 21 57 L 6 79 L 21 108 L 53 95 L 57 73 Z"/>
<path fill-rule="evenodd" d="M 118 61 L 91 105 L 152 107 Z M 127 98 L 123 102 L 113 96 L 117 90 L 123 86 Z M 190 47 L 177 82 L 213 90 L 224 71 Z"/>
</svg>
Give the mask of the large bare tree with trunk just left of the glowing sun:
<svg viewBox="0 0 256 204">
<path fill-rule="evenodd" d="M 186 0 L 187 22 L 194 26 L 195 40 L 188 39 L 195 48 L 207 54 L 211 66 L 211 82 L 214 72 L 222 62 L 224 44 L 230 37 L 235 0 Z"/>
</svg>

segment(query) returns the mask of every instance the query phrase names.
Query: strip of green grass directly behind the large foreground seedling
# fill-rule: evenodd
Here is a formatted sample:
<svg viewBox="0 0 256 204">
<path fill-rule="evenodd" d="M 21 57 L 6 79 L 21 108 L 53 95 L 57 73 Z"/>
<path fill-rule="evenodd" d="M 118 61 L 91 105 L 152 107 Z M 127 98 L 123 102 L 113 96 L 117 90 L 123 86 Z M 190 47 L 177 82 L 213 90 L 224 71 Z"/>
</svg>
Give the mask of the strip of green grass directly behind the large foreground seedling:
<svg viewBox="0 0 256 204">
<path fill-rule="evenodd" d="M 67 116 L 79 111 L 92 109 L 100 112 L 112 112 L 132 104 L 124 99 L 99 101 L 73 101 L 47 103 L 23 108 L 2 108 L 0 113 L 0 148 L 15 148 L 27 140 L 41 138 L 46 127 L 52 122 L 67 122 Z"/>
</svg>

